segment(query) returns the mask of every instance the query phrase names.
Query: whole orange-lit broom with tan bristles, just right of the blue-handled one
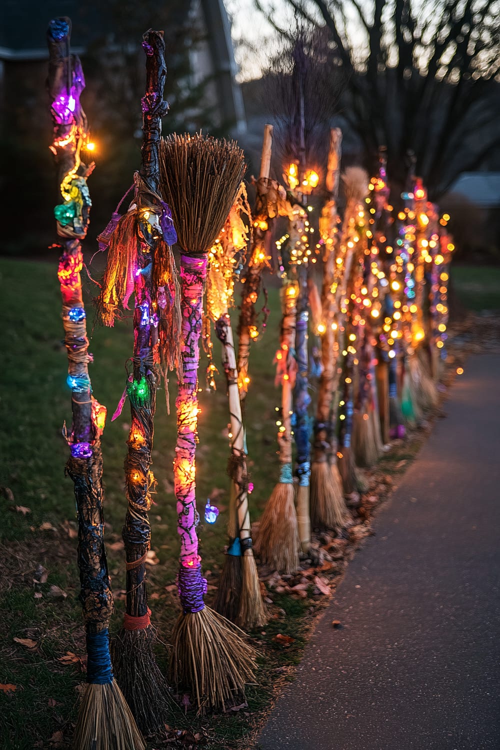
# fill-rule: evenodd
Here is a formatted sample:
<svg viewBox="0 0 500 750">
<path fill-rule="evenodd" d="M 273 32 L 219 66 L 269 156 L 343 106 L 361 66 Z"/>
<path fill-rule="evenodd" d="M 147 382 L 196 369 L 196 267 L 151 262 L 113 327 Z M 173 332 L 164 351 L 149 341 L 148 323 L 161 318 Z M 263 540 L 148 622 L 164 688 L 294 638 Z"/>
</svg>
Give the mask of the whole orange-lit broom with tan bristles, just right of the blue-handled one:
<svg viewBox="0 0 500 750">
<path fill-rule="evenodd" d="M 341 286 L 343 259 L 336 263 L 338 248 L 337 196 L 340 177 L 340 151 L 342 131 L 334 128 L 330 133 L 326 187 L 330 199 L 322 208 L 319 230 L 324 242 L 323 284 L 321 295 L 322 316 L 318 330 L 322 345 L 322 374 L 319 379 L 316 421 L 314 423 L 313 461 L 310 478 L 310 514 L 313 526 L 334 529 L 346 520 L 346 502 L 342 479 L 337 467 L 337 388 L 339 375 L 340 314 L 336 293 Z"/>
</svg>

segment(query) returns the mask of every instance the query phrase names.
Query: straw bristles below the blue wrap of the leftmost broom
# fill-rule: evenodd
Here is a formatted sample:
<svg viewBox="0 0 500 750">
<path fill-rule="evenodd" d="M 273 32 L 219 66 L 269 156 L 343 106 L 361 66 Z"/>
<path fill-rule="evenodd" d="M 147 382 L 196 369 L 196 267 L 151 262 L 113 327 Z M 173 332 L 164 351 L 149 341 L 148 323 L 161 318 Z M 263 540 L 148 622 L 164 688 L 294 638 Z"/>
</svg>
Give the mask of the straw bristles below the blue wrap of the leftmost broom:
<svg viewBox="0 0 500 750">
<path fill-rule="evenodd" d="M 73 750 L 145 750 L 145 747 L 115 680 L 106 685 L 86 685 Z"/>
</svg>

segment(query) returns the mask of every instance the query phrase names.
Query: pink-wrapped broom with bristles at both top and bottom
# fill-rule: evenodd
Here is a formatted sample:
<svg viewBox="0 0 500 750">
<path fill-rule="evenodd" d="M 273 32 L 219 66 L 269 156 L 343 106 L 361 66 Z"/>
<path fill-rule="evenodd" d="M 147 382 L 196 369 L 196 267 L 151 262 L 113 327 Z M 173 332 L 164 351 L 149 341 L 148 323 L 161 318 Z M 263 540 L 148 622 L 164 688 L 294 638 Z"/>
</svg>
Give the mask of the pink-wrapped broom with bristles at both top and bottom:
<svg viewBox="0 0 500 750">
<path fill-rule="evenodd" d="M 208 250 L 238 193 L 244 156 L 235 142 L 197 133 L 162 142 L 162 191 L 172 206 L 181 246 L 181 382 L 178 384 L 174 460 L 181 556 L 178 591 L 182 612 L 172 633 L 170 674 L 190 691 L 199 711 L 225 710 L 253 679 L 254 652 L 242 631 L 205 607 L 196 525 L 196 441 L 199 336 Z"/>
</svg>

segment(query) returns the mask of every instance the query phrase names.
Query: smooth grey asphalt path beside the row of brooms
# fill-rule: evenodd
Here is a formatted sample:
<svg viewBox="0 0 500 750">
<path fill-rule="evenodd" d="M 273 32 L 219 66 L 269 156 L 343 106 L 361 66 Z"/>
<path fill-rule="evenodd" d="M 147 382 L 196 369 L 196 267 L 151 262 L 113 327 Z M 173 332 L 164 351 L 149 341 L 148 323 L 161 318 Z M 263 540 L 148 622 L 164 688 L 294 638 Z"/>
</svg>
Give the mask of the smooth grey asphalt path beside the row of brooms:
<svg viewBox="0 0 500 750">
<path fill-rule="evenodd" d="M 499 353 L 467 360 L 259 750 L 500 747 L 499 386 Z"/>
</svg>

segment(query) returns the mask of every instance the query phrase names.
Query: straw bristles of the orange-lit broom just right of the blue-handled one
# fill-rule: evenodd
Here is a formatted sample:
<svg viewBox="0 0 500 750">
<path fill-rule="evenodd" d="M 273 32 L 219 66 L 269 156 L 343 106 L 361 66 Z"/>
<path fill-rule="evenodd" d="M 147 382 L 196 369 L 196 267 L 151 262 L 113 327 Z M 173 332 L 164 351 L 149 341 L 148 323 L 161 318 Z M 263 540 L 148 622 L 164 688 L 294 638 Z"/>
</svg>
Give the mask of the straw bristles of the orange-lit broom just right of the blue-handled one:
<svg viewBox="0 0 500 750">
<path fill-rule="evenodd" d="M 320 529 L 346 526 L 347 508 L 337 463 L 313 461 L 310 478 L 311 523 Z"/>
</svg>

